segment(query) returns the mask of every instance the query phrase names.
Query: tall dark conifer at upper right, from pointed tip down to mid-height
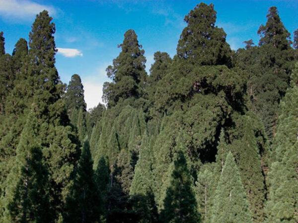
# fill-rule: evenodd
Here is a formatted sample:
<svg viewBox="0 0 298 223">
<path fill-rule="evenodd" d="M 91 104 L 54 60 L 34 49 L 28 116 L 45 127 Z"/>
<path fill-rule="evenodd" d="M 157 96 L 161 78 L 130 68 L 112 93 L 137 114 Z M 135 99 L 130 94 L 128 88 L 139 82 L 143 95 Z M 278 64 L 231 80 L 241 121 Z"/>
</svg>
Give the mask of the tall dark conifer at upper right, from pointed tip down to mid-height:
<svg viewBox="0 0 298 223">
<path fill-rule="evenodd" d="M 260 69 L 253 82 L 256 92 L 252 101 L 264 122 L 269 139 L 274 136 L 277 110 L 280 100 L 289 86 L 293 68 L 294 52 L 290 33 L 282 23 L 275 6 L 270 7 L 266 25 L 261 25 L 258 34 Z"/>
</svg>

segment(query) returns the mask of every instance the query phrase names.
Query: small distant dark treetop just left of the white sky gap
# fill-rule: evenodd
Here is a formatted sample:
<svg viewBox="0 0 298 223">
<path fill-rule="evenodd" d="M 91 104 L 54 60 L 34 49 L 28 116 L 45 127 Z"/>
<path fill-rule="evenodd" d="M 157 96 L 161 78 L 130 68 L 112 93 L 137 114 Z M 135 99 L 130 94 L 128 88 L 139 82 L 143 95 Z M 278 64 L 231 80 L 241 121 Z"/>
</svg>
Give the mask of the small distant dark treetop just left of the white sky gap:
<svg viewBox="0 0 298 223">
<path fill-rule="evenodd" d="M 64 95 L 65 105 L 69 112 L 69 114 L 74 109 L 82 109 L 86 111 L 86 103 L 84 101 L 84 89 L 81 83 L 80 76 L 78 74 L 74 74 L 72 79 L 67 86 L 67 91 Z"/>
</svg>

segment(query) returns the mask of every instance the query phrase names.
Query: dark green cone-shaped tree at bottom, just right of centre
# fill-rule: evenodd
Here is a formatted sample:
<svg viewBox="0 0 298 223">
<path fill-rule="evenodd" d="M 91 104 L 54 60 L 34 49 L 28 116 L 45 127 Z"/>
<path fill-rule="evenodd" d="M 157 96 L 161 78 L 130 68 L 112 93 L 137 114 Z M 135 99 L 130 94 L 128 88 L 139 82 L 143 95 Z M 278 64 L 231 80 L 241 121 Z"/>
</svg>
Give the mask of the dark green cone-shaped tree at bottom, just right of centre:
<svg viewBox="0 0 298 223">
<path fill-rule="evenodd" d="M 197 203 L 192 191 L 190 172 L 182 151 L 177 153 L 170 186 L 167 188 L 164 199 L 164 209 L 160 213 L 164 223 L 197 223 L 200 215 L 197 212 Z"/>
</svg>

